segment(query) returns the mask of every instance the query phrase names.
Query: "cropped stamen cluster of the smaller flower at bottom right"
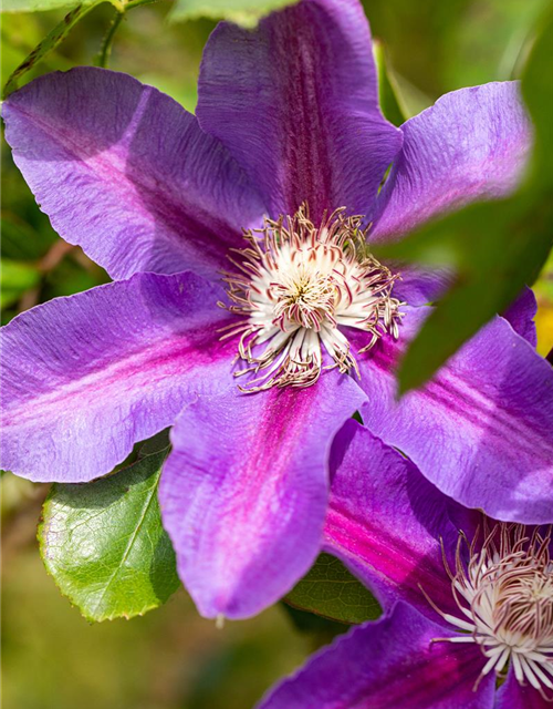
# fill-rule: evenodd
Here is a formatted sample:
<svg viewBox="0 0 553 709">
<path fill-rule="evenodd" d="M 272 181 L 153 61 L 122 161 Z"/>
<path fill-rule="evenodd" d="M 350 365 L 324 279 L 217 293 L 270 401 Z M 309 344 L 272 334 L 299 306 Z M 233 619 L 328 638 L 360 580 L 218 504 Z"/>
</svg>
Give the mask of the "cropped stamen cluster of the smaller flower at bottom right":
<svg viewBox="0 0 553 709">
<path fill-rule="evenodd" d="M 512 661 L 518 681 L 545 697 L 553 691 L 553 561 L 551 530 L 545 536 L 526 535 L 522 525 L 499 524 L 482 549 L 465 567 L 457 552 L 456 574 L 450 574 L 459 609 L 467 618 L 441 614 L 470 635 L 441 638 L 476 643 L 488 661 L 480 677 L 501 674 Z"/>
</svg>

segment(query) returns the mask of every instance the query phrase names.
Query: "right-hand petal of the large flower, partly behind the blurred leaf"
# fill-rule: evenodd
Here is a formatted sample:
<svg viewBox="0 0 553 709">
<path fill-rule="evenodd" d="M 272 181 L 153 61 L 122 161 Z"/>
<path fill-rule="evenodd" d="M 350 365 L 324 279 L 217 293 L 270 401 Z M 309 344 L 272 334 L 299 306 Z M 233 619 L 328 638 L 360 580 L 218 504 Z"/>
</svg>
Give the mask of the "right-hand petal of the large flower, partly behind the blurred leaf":
<svg viewBox="0 0 553 709">
<path fill-rule="evenodd" d="M 425 310 L 407 308 L 399 341 L 388 337 L 359 359 L 367 428 L 461 504 L 504 521 L 552 522 L 553 369 L 498 317 L 397 402 L 393 371 Z"/>
</svg>

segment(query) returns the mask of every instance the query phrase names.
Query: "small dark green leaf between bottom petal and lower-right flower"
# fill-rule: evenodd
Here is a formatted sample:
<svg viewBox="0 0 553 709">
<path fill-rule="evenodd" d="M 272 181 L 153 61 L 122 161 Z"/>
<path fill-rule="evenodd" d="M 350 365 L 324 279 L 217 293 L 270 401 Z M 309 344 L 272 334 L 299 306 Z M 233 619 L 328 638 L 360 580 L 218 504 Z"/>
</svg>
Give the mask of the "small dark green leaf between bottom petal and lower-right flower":
<svg viewBox="0 0 553 709">
<path fill-rule="evenodd" d="M 321 554 L 284 600 L 294 608 L 340 623 L 365 623 L 380 615 L 373 594 L 330 554 Z"/>
</svg>

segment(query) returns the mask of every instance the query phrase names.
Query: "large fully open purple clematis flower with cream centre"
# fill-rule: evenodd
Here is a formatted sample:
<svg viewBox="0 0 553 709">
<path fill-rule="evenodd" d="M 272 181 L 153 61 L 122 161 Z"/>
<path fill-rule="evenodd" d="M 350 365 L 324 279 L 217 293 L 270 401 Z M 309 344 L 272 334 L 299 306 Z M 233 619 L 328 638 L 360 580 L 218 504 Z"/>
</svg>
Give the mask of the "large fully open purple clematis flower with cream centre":
<svg viewBox="0 0 553 709">
<path fill-rule="evenodd" d="M 3 115 L 54 228 L 115 280 L 4 328 L 0 464 L 84 482 L 174 424 L 161 514 L 205 616 L 252 615 L 307 571 L 330 446 L 359 409 L 462 503 L 551 520 L 533 296 L 397 403 L 395 362 L 442 284 L 365 243 L 513 188 L 531 143 L 517 83 L 395 129 L 361 4 L 302 0 L 254 32 L 216 29 L 197 116 L 92 68 L 38 79 Z"/>
</svg>

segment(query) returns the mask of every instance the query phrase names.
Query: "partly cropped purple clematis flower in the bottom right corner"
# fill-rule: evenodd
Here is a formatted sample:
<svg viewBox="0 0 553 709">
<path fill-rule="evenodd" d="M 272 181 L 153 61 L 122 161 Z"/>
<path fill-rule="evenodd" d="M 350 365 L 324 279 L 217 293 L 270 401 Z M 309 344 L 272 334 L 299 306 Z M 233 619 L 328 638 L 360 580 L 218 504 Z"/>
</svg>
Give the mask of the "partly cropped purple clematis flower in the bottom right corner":
<svg viewBox="0 0 553 709">
<path fill-rule="evenodd" d="M 461 507 L 355 421 L 331 460 L 325 548 L 386 613 L 314 655 L 260 709 L 551 707 L 551 527 Z"/>
</svg>

